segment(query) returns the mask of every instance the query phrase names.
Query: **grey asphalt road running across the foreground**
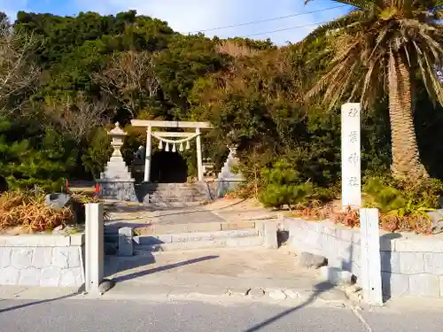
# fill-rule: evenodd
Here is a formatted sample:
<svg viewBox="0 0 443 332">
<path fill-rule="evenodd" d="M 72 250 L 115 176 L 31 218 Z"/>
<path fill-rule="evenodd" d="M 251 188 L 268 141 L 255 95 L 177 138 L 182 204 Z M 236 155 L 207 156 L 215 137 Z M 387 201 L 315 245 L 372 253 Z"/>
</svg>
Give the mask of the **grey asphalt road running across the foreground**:
<svg viewBox="0 0 443 332">
<path fill-rule="evenodd" d="M 347 308 L 200 302 L 0 301 L 1 332 L 268 331 L 386 332 L 441 331 L 443 319 L 418 315 L 366 313 L 366 328 Z M 418 318 L 417 318 L 418 317 Z"/>
</svg>

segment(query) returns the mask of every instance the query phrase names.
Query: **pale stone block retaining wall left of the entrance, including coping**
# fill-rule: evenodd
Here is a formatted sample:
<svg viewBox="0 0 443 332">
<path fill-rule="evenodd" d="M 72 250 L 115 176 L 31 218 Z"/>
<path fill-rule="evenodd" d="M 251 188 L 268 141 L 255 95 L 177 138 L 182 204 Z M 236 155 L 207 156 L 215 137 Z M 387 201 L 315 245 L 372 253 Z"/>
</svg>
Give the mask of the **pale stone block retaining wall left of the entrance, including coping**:
<svg viewBox="0 0 443 332">
<path fill-rule="evenodd" d="M 0 235 L 0 285 L 81 287 L 84 235 Z"/>
</svg>

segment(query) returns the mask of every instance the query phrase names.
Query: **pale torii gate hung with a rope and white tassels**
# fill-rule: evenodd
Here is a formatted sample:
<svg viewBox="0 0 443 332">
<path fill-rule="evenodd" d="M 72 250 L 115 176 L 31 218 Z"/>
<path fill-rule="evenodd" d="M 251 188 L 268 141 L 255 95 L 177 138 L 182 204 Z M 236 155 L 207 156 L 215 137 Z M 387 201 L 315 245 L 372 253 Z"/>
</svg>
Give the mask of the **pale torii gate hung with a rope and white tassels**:
<svg viewBox="0 0 443 332">
<path fill-rule="evenodd" d="M 146 153 L 144 157 L 144 181 L 151 179 L 151 161 L 152 161 L 152 137 L 159 141 L 159 148 L 165 148 L 165 151 L 177 151 L 176 145 L 179 145 L 178 151 L 183 151 L 183 143 L 186 143 L 186 149 L 190 148 L 190 141 L 196 139 L 197 145 L 197 169 L 198 181 L 203 181 L 203 158 L 201 151 L 201 129 L 212 128 L 209 122 L 190 122 L 190 121 L 157 121 L 157 120 L 131 120 L 133 127 L 146 127 Z M 161 132 L 153 131 L 153 128 L 195 128 L 194 133 L 186 132 Z M 178 140 L 170 138 L 181 137 Z M 169 145 L 172 148 L 169 149 Z"/>
</svg>

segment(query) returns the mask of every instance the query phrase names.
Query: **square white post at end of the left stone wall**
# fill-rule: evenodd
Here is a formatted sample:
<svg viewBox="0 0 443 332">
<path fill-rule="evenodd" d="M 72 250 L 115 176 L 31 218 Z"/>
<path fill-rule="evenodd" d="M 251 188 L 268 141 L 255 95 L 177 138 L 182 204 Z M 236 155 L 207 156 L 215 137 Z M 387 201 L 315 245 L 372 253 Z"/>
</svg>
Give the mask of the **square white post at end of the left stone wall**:
<svg viewBox="0 0 443 332">
<path fill-rule="evenodd" d="M 86 280 L 87 293 L 98 293 L 98 285 L 104 277 L 104 224 L 103 205 L 90 203 L 85 205 L 86 211 Z"/>
</svg>

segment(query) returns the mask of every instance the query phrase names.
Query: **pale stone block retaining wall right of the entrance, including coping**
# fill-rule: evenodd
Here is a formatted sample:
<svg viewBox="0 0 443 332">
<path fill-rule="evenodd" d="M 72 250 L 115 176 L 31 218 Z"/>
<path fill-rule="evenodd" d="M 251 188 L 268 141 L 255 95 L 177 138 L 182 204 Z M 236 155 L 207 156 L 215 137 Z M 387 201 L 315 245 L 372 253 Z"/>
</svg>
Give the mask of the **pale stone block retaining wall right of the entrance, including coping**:
<svg viewBox="0 0 443 332">
<path fill-rule="evenodd" d="M 284 218 L 291 246 L 326 257 L 330 266 L 361 275 L 360 229 Z M 385 296 L 443 297 L 443 236 L 380 233 Z"/>
</svg>

